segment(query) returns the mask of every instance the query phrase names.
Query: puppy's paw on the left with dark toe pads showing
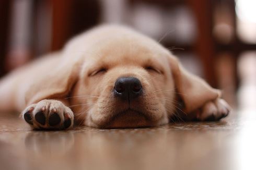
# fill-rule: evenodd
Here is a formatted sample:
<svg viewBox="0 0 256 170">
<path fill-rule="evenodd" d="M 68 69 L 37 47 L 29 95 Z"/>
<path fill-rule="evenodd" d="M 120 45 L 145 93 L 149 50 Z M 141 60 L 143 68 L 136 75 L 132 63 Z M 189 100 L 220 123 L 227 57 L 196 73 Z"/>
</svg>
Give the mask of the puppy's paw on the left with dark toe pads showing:
<svg viewBox="0 0 256 170">
<path fill-rule="evenodd" d="M 67 129 L 73 126 L 71 109 L 57 100 L 42 100 L 29 105 L 22 117 L 35 129 Z"/>
</svg>

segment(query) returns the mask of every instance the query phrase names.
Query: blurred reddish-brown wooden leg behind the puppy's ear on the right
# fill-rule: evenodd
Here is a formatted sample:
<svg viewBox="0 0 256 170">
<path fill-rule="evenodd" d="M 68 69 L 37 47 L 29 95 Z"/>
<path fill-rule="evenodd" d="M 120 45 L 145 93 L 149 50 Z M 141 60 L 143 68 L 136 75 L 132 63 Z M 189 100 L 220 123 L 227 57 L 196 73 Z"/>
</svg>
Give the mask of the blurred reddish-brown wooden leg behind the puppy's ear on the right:
<svg viewBox="0 0 256 170">
<path fill-rule="evenodd" d="M 212 9 L 211 2 L 205 0 L 188 0 L 197 22 L 197 40 L 195 51 L 199 56 L 205 74 L 205 79 L 213 87 L 217 87 L 214 71 L 214 41 L 212 37 Z"/>
</svg>

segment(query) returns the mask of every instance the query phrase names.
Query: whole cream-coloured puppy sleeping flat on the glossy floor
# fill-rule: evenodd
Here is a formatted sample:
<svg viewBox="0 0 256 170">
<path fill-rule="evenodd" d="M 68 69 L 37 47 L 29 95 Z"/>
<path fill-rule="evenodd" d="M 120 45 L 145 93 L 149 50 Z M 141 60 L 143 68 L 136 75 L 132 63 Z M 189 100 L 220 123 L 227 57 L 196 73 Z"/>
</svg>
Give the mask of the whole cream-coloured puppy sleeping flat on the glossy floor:
<svg viewBox="0 0 256 170">
<path fill-rule="evenodd" d="M 133 128 L 229 113 L 220 91 L 186 71 L 158 42 L 100 26 L 0 81 L 0 110 L 22 111 L 35 129 Z"/>
</svg>

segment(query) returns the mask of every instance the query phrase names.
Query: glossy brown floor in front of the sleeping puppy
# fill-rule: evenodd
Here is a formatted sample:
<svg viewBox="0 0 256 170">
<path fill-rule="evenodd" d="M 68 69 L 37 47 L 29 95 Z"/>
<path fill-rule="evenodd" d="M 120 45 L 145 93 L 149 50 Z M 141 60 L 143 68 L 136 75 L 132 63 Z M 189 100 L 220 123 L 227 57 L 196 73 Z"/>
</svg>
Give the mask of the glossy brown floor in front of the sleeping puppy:
<svg viewBox="0 0 256 170">
<path fill-rule="evenodd" d="M 256 169 L 256 112 L 159 128 L 31 131 L 0 117 L 1 169 Z"/>
</svg>

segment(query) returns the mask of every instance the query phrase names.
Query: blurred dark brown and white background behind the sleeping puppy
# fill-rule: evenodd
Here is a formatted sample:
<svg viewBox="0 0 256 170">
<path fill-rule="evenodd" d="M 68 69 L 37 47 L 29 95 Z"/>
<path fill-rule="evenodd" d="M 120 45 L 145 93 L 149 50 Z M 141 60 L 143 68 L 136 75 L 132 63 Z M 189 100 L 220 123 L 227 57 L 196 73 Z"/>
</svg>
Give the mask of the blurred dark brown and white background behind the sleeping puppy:
<svg viewBox="0 0 256 170">
<path fill-rule="evenodd" d="M 147 34 L 231 105 L 256 106 L 255 0 L 1 0 L 0 76 L 101 23 Z"/>
</svg>

